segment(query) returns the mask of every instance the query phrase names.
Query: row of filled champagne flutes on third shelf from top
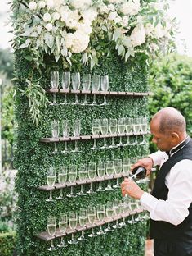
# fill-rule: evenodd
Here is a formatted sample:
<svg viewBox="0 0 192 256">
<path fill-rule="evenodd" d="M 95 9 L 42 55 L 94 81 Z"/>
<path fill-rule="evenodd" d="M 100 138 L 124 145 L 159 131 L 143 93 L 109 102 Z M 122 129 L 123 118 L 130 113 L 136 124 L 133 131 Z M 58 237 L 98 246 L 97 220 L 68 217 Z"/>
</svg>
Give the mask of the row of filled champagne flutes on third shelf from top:
<svg viewBox="0 0 192 256">
<path fill-rule="evenodd" d="M 133 163 L 137 162 L 137 158 L 123 158 L 122 159 L 114 159 L 113 161 L 106 161 L 106 162 L 89 162 L 87 163 L 81 163 L 78 167 L 74 164 L 71 164 L 69 166 L 60 166 L 58 168 L 58 181 L 60 185 L 65 185 L 67 181 L 69 181 L 70 184 L 70 194 L 67 194 L 67 197 L 72 198 L 76 197 L 77 195 L 86 195 L 86 194 L 93 194 L 105 190 L 114 190 L 119 188 L 119 178 L 117 178 L 116 184 L 111 185 L 111 179 L 114 178 L 114 175 L 118 175 L 121 172 L 123 174 L 129 176 L 131 175 L 131 166 Z M 56 167 L 50 167 L 47 171 L 47 185 L 50 187 L 54 187 L 56 184 Z M 96 191 L 93 190 L 92 183 L 96 181 L 96 177 L 104 178 L 104 176 L 107 176 L 109 178 L 108 185 L 103 188 L 102 187 L 102 181 L 99 181 L 99 186 L 96 189 Z M 81 190 L 74 194 L 74 185 L 76 185 L 76 181 L 82 181 L 86 182 L 89 181 L 90 183 L 90 189 L 86 192 L 84 191 L 83 184 L 81 184 Z M 145 182 L 145 179 L 141 181 L 137 181 L 139 183 Z M 63 188 L 60 188 L 60 196 L 56 199 L 59 200 L 65 200 L 66 198 L 63 196 Z M 48 202 L 54 201 L 52 198 L 52 190 L 50 190 L 50 196 L 49 199 L 47 199 Z"/>
</svg>

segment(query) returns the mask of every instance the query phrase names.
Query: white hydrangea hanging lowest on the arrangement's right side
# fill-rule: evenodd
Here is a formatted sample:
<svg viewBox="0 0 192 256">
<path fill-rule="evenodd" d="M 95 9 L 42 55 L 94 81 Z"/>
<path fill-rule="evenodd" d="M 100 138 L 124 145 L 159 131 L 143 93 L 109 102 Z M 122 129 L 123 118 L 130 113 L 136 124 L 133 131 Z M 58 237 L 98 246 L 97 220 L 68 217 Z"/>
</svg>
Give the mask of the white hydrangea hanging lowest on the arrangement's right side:
<svg viewBox="0 0 192 256">
<path fill-rule="evenodd" d="M 134 30 L 132 30 L 132 34 L 130 36 L 132 41 L 132 46 L 136 47 L 145 43 L 145 28 L 143 25 L 137 25 Z"/>
</svg>

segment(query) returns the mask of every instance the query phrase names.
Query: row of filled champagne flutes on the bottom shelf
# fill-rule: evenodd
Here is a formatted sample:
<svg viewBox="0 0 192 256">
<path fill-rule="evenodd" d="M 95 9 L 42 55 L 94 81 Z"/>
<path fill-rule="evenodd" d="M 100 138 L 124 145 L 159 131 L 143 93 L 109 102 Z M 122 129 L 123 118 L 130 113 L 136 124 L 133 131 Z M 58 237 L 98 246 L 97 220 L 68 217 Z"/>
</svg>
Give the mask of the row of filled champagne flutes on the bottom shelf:
<svg viewBox="0 0 192 256">
<path fill-rule="evenodd" d="M 94 224 L 96 221 L 104 221 L 105 217 L 111 218 L 114 216 L 119 216 L 122 213 L 130 213 L 131 211 L 138 210 L 141 208 L 141 205 L 139 201 L 130 199 L 129 203 L 125 204 L 122 200 L 115 199 L 114 202 L 106 202 L 105 205 L 102 203 L 99 203 L 94 206 L 88 206 L 88 208 L 81 208 L 79 212 L 72 212 L 66 214 L 66 213 L 60 213 L 59 216 L 59 231 L 61 234 L 65 234 L 65 231 L 69 227 L 71 230 L 76 231 L 76 228 L 79 224 L 81 227 L 86 227 L 89 224 Z M 89 233 L 88 237 L 95 237 L 96 235 L 105 235 L 107 232 L 114 231 L 115 229 L 122 228 L 123 226 L 126 226 L 127 224 L 133 224 L 136 222 L 145 221 L 148 218 L 148 215 L 145 213 L 137 214 L 136 217 L 132 215 L 131 217 L 128 217 L 126 222 L 126 217 L 123 217 L 121 222 L 118 222 L 118 219 L 116 222 L 113 222 L 112 225 L 110 225 L 110 222 L 108 222 L 108 225 L 105 226 L 105 229 L 102 228 L 102 225 L 100 225 L 100 230 L 95 232 L 94 228 L 92 228 L 91 233 Z M 47 217 L 47 231 L 48 234 L 51 236 L 54 236 L 56 234 L 56 217 L 49 216 Z M 83 241 L 87 240 L 87 237 L 85 237 L 84 230 L 81 231 L 81 235 L 78 237 L 78 240 Z M 75 240 L 74 233 L 72 233 L 71 240 L 68 241 L 69 244 L 77 244 L 78 240 Z M 64 248 L 67 245 L 65 244 L 65 240 L 63 239 L 63 236 L 61 236 L 60 244 L 57 245 L 60 248 Z M 56 250 L 57 248 L 53 244 L 53 240 L 51 240 L 51 247 L 48 248 L 48 250 Z"/>
</svg>

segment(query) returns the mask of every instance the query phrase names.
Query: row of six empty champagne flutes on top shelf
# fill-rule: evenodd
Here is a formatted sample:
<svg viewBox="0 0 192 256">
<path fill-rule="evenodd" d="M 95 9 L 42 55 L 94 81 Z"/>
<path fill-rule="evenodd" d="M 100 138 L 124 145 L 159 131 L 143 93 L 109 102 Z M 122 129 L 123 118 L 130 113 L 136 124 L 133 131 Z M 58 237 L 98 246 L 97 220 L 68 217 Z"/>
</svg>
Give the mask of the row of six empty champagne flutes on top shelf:
<svg viewBox="0 0 192 256">
<path fill-rule="evenodd" d="M 60 73 L 59 71 L 52 71 L 51 72 L 51 88 L 58 89 L 59 88 L 59 80 L 60 80 Z M 98 92 L 100 89 L 101 91 L 108 91 L 109 89 L 109 76 L 108 75 L 92 75 L 91 74 L 84 74 L 82 75 L 82 79 L 80 78 L 79 73 L 70 73 L 70 72 L 62 72 L 61 74 L 61 85 L 63 89 L 69 89 L 70 84 L 72 85 L 72 89 L 79 90 L 81 86 L 82 80 L 82 89 L 83 90 L 90 90 L 92 84 L 92 93 Z M 69 104 L 67 102 L 67 95 L 65 94 L 64 102 L 60 103 L 60 105 Z M 75 94 L 75 101 L 72 103 L 73 105 L 90 105 L 96 106 L 96 94 L 93 95 L 93 102 L 87 103 L 87 94 L 84 96 L 83 103 L 79 103 L 78 101 L 78 94 Z M 58 105 L 56 102 L 56 94 L 53 94 L 53 102 L 51 105 Z M 104 95 L 104 102 L 100 105 L 107 105 L 106 102 L 106 95 Z"/>
</svg>

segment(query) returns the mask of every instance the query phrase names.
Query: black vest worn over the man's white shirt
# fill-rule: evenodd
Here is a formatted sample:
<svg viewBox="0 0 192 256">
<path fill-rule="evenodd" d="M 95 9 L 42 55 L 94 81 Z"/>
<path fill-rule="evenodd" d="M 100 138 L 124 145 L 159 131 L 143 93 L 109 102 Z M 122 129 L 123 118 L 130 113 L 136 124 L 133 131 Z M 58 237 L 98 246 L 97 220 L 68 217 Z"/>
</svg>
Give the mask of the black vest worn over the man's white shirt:
<svg viewBox="0 0 192 256">
<path fill-rule="evenodd" d="M 159 170 L 152 195 L 157 199 L 167 199 L 168 189 L 165 185 L 165 177 L 171 168 L 183 159 L 192 160 L 192 139 L 182 149 L 177 151 L 163 163 Z M 182 171 L 185 171 L 182 170 Z M 192 171 L 192 169 L 191 169 Z M 176 196 L 176 195 L 175 195 Z M 192 191 L 191 191 L 192 198 Z M 175 226 L 169 222 L 150 220 L 150 237 L 160 240 L 191 240 L 192 241 L 192 203 L 190 203 L 189 215 L 179 225 Z"/>
</svg>

